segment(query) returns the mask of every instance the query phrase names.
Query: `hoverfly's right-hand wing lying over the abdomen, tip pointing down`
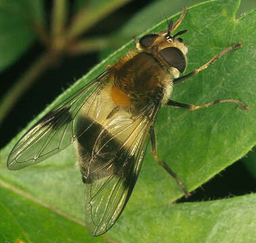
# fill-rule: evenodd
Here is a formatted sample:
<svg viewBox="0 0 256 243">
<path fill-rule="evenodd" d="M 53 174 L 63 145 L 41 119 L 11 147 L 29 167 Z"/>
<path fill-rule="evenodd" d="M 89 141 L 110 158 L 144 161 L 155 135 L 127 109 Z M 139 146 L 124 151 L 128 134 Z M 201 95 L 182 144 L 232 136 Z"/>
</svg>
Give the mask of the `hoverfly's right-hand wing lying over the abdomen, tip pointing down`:
<svg viewBox="0 0 256 243">
<path fill-rule="evenodd" d="M 87 130 L 88 134 L 85 132 L 85 137 L 78 139 L 85 183 L 85 225 L 93 236 L 108 231 L 125 208 L 159 107 L 151 105 L 131 118 L 117 112 L 104 127 L 94 124 L 91 132 Z M 87 144 L 88 136 L 92 138 L 91 144 Z"/>
</svg>

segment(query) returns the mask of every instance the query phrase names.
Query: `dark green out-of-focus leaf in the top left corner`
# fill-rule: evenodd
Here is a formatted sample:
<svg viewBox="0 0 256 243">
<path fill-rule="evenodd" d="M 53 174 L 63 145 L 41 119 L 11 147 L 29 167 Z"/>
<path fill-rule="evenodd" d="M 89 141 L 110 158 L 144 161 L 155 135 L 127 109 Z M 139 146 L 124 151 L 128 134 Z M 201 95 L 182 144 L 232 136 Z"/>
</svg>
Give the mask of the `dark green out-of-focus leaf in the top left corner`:
<svg viewBox="0 0 256 243">
<path fill-rule="evenodd" d="M 43 25 L 42 0 L 0 0 L 0 72 L 33 43 Z"/>
</svg>

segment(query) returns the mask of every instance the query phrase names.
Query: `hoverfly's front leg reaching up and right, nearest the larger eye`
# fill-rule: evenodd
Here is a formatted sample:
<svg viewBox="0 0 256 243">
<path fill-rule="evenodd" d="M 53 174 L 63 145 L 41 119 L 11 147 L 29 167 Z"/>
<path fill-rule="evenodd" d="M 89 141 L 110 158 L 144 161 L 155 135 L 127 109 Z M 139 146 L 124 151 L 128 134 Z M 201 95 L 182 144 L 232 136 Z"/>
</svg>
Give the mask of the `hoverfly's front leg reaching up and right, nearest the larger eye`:
<svg viewBox="0 0 256 243">
<path fill-rule="evenodd" d="M 201 72 L 202 70 L 205 70 L 206 68 L 209 67 L 209 65 L 215 63 L 215 61 L 217 59 L 219 59 L 219 57 L 222 57 L 223 55 L 225 55 L 226 53 L 228 53 L 229 51 L 232 51 L 236 48 L 240 48 L 242 47 L 242 43 L 241 42 L 238 42 L 237 44 L 235 45 L 232 45 L 231 47 L 228 47 L 226 49 L 224 49 L 223 51 L 221 51 L 219 54 L 215 55 L 210 61 L 208 61 L 207 63 L 205 63 L 205 65 L 202 65 L 200 68 L 196 68 L 195 70 L 193 70 L 192 72 L 190 72 L 189 74 L 186 74 L 182 77 L 179 77 L 179 78 L 175 78 L 173 80 L 173 84 L 177 84 L 179 82 L 182 82 L 183 80 L 186 80 L 187 78 L 190 78 L 191 76 L 194 76 L 196 74 L 198 74 L 198 72 Z"/>
</svg>

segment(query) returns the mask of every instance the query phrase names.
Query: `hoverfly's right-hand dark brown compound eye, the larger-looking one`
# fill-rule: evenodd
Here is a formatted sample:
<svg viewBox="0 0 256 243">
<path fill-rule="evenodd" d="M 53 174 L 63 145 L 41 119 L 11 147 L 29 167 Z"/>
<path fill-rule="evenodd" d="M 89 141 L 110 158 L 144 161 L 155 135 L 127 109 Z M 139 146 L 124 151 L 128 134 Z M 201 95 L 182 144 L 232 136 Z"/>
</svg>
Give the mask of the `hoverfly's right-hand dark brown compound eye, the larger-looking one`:
<svg viewBox="0 0 256 243">
<path fill-rule="evenodd" d="M 179 72 L 184 72 L 186 59 L 182 51 L 176 47 L 166 47 L 158 53 L 171 67 L 177 68 Z"/>
</svg>

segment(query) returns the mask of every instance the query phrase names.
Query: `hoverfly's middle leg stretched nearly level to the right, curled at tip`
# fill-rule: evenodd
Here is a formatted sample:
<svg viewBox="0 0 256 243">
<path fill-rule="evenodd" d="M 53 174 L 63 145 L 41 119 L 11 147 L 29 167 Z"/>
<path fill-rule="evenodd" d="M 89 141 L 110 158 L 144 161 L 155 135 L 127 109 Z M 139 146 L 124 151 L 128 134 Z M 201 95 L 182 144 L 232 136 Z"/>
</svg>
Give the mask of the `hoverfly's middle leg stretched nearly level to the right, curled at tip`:
<svg viewBox="0 0 256 243">
<path fill-rule="evenodd" d="M 180 107 L 180 108 L 185 108 L 185 109 L 190 109 L 192 111 L 196 110 L 196 109 L 201 109 L 204 107 L 209 107 L 211 105 L 215 105 L 217 103 L 224 103 L 224 102 L 232 102 L 232 103 L 236 103 L 238 105 L 240 105 L 240 107 L 242 107 L 242 109 L 244 109 L 244 111 L 247 111 L 249 109 L 249 107 L 247 107 L 246 105 L 244 105 L 244 103 L 242 103 L 241 101 L 238 100 L 234 100 L 234 99 L 221 99 L 221 100 L 216 100 L 216 101 L 211 101 L 205 105 L 191 105 L 191 104 L 185 104 L 185 103 L 180 103 L 177 101 L 171 101 L 170 99 L 167 102 L 167 105 L 171 105 L 173 107 Z"/>
</svg>

